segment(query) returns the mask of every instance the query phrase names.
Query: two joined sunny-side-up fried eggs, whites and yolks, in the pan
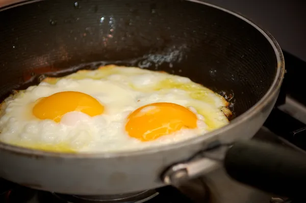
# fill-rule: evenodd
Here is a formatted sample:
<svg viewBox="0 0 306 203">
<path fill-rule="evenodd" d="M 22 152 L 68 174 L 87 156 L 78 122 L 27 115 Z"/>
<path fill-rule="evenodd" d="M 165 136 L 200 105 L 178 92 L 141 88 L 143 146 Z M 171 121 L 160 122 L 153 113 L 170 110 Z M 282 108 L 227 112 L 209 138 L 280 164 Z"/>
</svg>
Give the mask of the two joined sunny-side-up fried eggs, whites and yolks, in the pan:
<svg viewBox="0 0 306 203">
<path fill-rule="evenodd" d="M 0 141 L 69 153 L 140 150 L 221 128 L 227 106 L 188 78 L 108 65 L 46 78 L 8 97 Z"/>
</svg>

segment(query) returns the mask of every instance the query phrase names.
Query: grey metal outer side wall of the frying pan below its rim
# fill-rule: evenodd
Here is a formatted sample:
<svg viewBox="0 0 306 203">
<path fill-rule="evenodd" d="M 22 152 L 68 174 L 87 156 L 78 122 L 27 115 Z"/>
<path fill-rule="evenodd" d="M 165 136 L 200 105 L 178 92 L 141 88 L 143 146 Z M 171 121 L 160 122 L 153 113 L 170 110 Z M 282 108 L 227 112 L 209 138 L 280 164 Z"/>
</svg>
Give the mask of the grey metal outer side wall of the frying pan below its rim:
<svg viewBox="0 0 306 203">
<path fill-rule="evenodd" d="M 167 151 L 121 158 L 94 158 L 90 155 L 88 158 L 69 158 L 29 156 L 0 149 L 0 176 L 23 186 L 64 194 L 121 194 L 162 187 L 160 175 L 166 167 L 186 160 L 210 142 L 251 138 L 262 126 L 274 103 L 275 99 L 264 111 L 231 131 Z"/>
</svg>

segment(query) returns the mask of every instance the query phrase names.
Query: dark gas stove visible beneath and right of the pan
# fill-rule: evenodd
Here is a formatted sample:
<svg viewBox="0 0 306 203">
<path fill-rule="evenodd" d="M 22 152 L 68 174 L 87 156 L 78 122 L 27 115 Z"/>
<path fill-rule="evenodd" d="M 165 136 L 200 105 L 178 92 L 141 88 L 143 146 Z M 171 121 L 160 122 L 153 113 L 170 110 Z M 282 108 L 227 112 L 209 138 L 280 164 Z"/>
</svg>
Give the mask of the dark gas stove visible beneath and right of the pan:
<svg viewBox="0 0 306 203">
<path fill-rule="evenodd" d="M 306 97 L 302 94 L 306 62 L 284 51 L 287 74 L 276 105 L 264 126 L 253 139 L 306 151 Z M 198 202 L 202 203 L 301 203 L 305 201 L 277 197 L 239 184 L 228 177 L 222 168 L 182 186 L 180 190 L 167 186 L 131 194 L 77 196 L 38 191 L 0 179 L 0 202 L 3 203 L 89 203 L 89 202 Z M 181 189 L 182 189 L 181 188 Z M 193 191 L 196 192 L 192 195 Z M 201 194 L 201 196 L 198 196 Z"/>
</svg>

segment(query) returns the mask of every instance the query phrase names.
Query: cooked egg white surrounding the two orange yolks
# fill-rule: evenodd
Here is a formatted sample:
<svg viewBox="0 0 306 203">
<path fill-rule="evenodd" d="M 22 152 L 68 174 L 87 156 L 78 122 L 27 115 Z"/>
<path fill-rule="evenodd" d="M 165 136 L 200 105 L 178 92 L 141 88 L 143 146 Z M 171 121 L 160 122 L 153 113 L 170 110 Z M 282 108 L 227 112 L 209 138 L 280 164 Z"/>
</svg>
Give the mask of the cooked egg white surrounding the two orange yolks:
<svg viewBox="0 0 306 203">
<path fill-rule="evenodd" d="M 172 86 L 165 81 L 171 81 Z M 185 88 L 177 88 L 177 85 Z M 105 112 L 94 117 L 70 112 L 62 117 L 60 123 L 40 120 L 32 114 L 38 98 L 63 91 L 91 95 L 105 107 Z M 203 96 L 192 95 L 195 91 L 196 95 Z M 197 128 L 184 129 L 148 142 L 128 136 L 124 130 L 126 117 L 139 107 L 160 102 L 188 107 L 197 115 Z M 60 79 L 47 78 L 7 99 L 2 106 L 0 141 L 42 150 L 79 153 L 139 150 L 205 136 L 208 131 L 228 123 L 221 111 L 226 105 L 224 98 L 188 78 L 140 68 L 108 66 L 94 71 L 78 71 Z M 200 112 L 205 112 L 205 115 Z"/>
</svg>

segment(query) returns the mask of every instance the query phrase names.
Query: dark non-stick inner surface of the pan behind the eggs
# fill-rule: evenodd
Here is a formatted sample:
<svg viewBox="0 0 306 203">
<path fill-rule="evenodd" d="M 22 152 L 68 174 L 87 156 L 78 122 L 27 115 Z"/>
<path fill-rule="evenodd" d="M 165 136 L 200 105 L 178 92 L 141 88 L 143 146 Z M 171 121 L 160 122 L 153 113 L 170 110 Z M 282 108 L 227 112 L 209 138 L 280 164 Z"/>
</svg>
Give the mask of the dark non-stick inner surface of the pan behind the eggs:
<svg viewBox="0 0 306 203">
<path fill-rule="evenodd" d="M 35 74 L 121 61 L 234 93 L 240 115 L 276 72 L 274 50 L 260 31 L 187 1 L 40 1 L 3 10 L 0 19 L 2 95 Z"/>
</svg>

